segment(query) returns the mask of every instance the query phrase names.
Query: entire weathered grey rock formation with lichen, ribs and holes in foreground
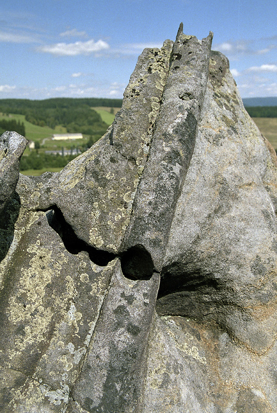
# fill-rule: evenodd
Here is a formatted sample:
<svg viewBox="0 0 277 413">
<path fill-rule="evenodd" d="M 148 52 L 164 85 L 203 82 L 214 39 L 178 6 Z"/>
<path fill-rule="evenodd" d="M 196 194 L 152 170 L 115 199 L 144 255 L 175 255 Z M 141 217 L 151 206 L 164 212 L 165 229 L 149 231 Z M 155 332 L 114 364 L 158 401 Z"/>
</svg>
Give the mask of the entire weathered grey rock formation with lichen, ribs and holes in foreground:
<svg viewBox="0 0 277 413">
<path fill-rule="evenodd" d="M 211 40 L 144 50 L 60 173 L 0 138 L 2 413 L 277 412 L 277 157 Z"/>
</svg>

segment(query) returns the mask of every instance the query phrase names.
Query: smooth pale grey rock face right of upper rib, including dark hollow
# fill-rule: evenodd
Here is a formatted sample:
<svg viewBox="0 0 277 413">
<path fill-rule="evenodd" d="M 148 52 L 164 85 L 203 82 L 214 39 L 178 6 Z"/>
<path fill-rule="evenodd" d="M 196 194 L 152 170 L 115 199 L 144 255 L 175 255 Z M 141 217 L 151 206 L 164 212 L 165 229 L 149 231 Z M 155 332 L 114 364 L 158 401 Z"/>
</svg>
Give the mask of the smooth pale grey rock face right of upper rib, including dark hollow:
<svg viewBox="0 0 277 413">
<path fill-rule="evenodd" d="M 225 76 L 216 83 L 211 77 L 208 84 L 171 227 L 158 308 L 216 322 L 264 353 L 277 332 L 276 184 L 268 190 L 264 182 L 269 172 L 277 182 L 276 167 L 219 53 L 211 57 L 211 67 L 216 64 Z"/>
</svg>

